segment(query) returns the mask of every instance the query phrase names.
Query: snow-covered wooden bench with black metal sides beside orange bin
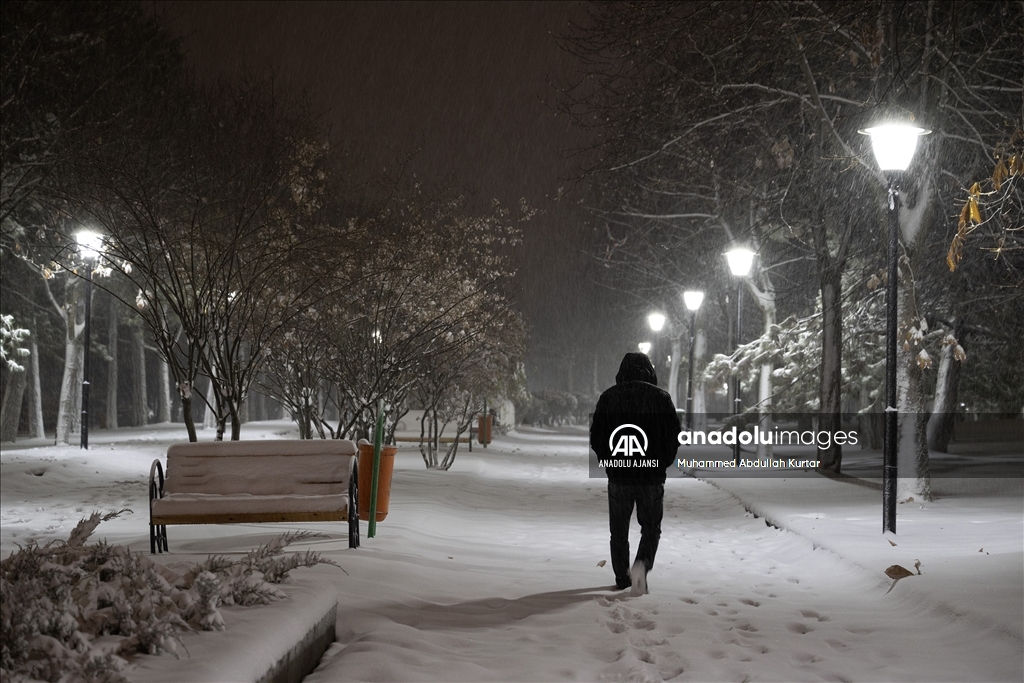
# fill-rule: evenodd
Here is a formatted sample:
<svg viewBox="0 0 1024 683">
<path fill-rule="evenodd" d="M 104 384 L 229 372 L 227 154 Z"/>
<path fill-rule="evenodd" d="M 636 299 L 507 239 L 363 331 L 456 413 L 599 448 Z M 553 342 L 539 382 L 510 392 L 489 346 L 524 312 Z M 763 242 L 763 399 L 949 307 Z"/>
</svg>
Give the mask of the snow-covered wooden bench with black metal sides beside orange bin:
<svg viewBox="0 0 1024 683">
<path fill-rule="evenodd" d="M 358 457 L 344 439 L 175 443 L 150 468 L 150 552 L 168 524 L 348 520 L 359 546 Z"/>
</svg>

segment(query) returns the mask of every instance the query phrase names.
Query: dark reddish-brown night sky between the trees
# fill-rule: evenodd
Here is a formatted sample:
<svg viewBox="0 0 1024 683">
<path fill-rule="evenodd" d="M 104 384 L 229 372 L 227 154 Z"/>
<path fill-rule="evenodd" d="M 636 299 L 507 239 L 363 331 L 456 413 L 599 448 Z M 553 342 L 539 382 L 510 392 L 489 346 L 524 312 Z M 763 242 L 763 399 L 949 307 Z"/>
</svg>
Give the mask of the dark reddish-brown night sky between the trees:
<svg viewBox="0 0 1024 683">
<path fill-rule="evenodd" d="M 581 144 L 550 106 L 549 81 L 573 69 L 552 34 L 580 18 L 579 3 L 157 4 L 200 76 L 272 73 L 305 90 L 335 139 L 368 164 L 386 167 L 418 148 L 414 169 L 428 183 L 542 209 L 520 264 L 519 305 L 536 341 L 557 336 L 550 328 L 566 308 L 594 295 L 584 214 L 551 199 L 575 173 L 566 151 Z M 534 349 L 535 364 L 543 355 Z"/>
</svg>

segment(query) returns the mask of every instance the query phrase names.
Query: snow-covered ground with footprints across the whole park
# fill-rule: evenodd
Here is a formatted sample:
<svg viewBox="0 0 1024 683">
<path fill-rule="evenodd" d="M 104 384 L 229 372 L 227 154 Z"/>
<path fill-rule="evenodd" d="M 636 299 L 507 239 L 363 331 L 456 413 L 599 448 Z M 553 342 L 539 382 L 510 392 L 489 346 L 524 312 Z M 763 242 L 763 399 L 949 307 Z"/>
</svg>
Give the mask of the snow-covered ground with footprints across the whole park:
<svg viewBox="0 0 1024 683">
<path fill-rule="evenodd" d="M 150 464 L 183 435 L 179 425 L 98 431 L 88 452 L 4 444 L 3 555 L 125 507 L 134 514 L 95 538 L 148 553 Z M 243 428 L 243 438 L 294 435 L 284 422 Z M 403 445 L 390 514 L 358 550 L 344 523 L 171 526 L 172 552 L 157 559 L 182 566 L 287 529 L 322 531 L 293 546 L 344 568 L 295 571 L 339 596 L 338 642 L 314 683 L 1020 681 L 1020 481 L 936 481 L 955 495 L 900 506 L 887 540 L 881 494 L 867 486 L 672 478 L 651 592 L 633 598 L 599 566 L 607 504 L 604 482 L 588 478 L 585 432 L 523 429 L 460 450 L 447 472 L 425 471 Z M 886 567 L 916 561 L 921 575 L 887 594 Z"/>
</svg>

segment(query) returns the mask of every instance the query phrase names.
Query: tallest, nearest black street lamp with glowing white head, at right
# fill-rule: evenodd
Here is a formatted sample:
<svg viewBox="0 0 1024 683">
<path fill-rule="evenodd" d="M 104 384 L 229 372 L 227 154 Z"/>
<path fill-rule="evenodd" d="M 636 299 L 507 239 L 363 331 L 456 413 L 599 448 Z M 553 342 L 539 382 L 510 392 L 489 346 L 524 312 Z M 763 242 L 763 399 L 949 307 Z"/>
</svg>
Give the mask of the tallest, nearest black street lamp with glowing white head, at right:
<svg viewBox="0 0 1024 683">
<path fill-rule="evenodd" d="M 886 283 L 886 414 L 882 458 L 882 531 L 896 532 L 897 430 L 896 407 L 897 281 L 899 279 L 899 181 L 918 148 L 918 138 L 931 131 L 906 124 L 886 124 L 860 131 L 871 138 L 879 169 L 889 182 L 889 254 Z"/>
</svg>

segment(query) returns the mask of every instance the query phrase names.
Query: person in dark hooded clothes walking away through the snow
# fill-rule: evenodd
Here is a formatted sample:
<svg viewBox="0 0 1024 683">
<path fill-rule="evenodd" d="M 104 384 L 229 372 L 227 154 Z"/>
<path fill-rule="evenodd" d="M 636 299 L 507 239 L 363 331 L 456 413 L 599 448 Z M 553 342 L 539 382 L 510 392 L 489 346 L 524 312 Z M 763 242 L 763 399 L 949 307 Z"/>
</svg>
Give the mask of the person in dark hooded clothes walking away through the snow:
<svg viewBox="0 0 1024 683">
<path fill-rule="evenodd" d="M 662 538 L 666 470 L 679 449 L 679 416 L 657 386 L 646 353 L 627 353 L 615 385 L 601 394 L 590 425 L 590 447 L 608 477 L 608 522 L 615 587 L 647 592 L 647 572 Z M 640 546 L 632 568 L 630 519 L 640 523 Z"/>
</svg>

